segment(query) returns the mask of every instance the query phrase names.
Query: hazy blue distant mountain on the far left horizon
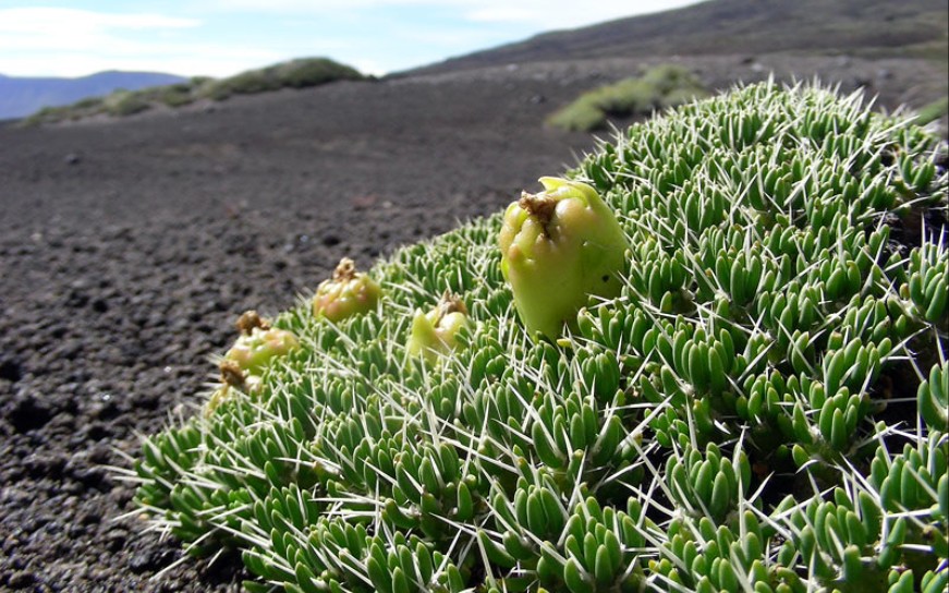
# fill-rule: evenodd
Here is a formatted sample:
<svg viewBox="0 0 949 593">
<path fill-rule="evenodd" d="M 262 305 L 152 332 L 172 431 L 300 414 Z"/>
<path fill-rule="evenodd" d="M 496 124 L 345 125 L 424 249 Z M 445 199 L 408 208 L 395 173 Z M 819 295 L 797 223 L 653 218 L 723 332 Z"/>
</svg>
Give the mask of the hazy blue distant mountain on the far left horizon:
<svg viewBox="0 0 949 593">
<path fill-rule="evenodd" d="M 78 78 L 20 77 L 0 74 L 0 119 L 22 118 L 44 107 L 73 104 L 108 95 L 119 88 L 137 90 L 184 82 L 187 78 L 156 72 L 108 71 Z"/>
</svg>

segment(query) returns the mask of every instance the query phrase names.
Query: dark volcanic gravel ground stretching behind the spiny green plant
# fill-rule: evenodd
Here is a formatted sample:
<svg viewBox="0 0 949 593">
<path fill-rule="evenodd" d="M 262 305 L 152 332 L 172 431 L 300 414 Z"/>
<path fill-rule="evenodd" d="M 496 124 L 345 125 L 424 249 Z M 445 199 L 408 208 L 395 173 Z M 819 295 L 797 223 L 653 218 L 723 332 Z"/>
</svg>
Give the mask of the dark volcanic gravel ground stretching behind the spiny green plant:
<svg viewBox="0 0 949 593">
<path fill-rule="evenodd" d="M 890 108 L 946 84 L 913 61 L 682 62 L 714 88 L 818 74 Z M 239 590 L 239 559 L 177 564 L 174 542 L 142 533 L 134 485 L 110 467 L 200 401 L 241 312 L 276 313 L 344 255 L 370 265 L 536 189 L 594 146 L 544 118 L 640 65 L 512 65 L 0 128 L 0 590 Z"/>
</svg>

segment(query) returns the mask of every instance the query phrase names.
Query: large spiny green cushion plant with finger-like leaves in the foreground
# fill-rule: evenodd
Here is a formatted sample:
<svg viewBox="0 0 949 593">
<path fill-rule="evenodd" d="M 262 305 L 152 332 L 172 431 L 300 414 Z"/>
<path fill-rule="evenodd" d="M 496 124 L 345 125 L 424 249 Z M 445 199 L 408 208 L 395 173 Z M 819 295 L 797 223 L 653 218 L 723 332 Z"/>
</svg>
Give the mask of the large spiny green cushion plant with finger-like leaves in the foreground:
<svg viewBox="0 0 949 593">
<path fill-rule="evenodd" d="M 636 124 L 568 176 L 617 213 L 617 293 L 550 340 L 500 216 L 404 247 L 375 307 L 301 303 L 259 380 L 147 438 L 136 500 L 250 591 L 942 591 L 941 149 L 774 84 Z"/>
</svg>

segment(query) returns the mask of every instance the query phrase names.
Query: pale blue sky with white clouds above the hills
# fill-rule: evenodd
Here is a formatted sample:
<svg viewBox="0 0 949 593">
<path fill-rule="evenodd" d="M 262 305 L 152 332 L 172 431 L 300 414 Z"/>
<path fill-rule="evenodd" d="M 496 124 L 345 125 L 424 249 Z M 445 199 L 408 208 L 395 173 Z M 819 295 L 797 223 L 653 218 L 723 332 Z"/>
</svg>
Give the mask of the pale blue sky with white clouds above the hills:
<svg viewBox="0 0 949 593">
<path fill-rule="evenodd" d="M 0 0 L 0 73 L 228 76 L 324 56 L 384 74 L 697 0 Z"/>
</svg>

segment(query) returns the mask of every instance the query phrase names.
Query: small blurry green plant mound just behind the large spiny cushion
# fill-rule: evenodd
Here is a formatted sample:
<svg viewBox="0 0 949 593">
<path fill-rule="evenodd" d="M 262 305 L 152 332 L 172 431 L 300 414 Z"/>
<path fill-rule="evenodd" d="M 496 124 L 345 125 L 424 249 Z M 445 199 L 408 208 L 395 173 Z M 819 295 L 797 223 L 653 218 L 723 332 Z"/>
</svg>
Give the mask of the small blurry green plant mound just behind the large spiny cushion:
<svg viewBox="0 0 949 593">
<path fill-rule="evenodd" d="M 689 70 L 659 64 L 641 76 L 584 93 L 550 116 L 547 123 L 564 130 L 591 132 L 605 129 L 609 118 L 648 116 L 706 96 L 708 90 Z"/>
</svg>

